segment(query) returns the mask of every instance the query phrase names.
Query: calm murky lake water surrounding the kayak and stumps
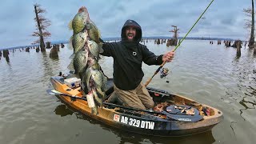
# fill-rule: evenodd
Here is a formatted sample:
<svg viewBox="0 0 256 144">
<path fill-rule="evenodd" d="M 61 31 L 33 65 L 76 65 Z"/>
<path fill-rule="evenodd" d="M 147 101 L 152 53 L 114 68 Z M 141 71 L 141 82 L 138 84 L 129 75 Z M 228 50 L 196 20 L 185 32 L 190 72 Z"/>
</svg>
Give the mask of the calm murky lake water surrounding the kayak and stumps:
<svg viewBox="0 0 256 144">
<path fill-rule="evenodd" d="M 255 143 L 256 57 L 242 47 L 242 56 L 236 58 L 236 49 L 209 43 L 182 42 L 174 61 L 165 65 L 171 70 L 167 76 L 170 83 L 158 74 L 149 85 L 222 110 L 224 120 L 209 132 L 179 138 L 132 134 L 71 110 L 46 94 L 52 88 L 50 77 L 69 71 L 66 66 L 73 51 L 65 46 L 58 59 L 49 58 L 50 50 L 42 54 L 34 49 L 10 52 L 10 62 L 1 58 L 0 143 Z M 153 41 L 146 46 L 154 54 L 174 48 Z M 111 77 L 113 59 L 105 57 L 100 63 Z M 158 66 L 143 64 L 142 68 L 146 82 Z"/>
</svg>

